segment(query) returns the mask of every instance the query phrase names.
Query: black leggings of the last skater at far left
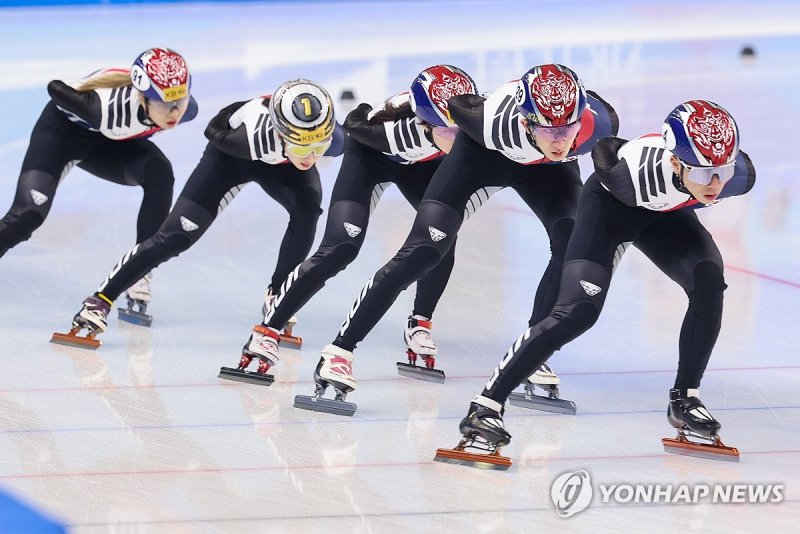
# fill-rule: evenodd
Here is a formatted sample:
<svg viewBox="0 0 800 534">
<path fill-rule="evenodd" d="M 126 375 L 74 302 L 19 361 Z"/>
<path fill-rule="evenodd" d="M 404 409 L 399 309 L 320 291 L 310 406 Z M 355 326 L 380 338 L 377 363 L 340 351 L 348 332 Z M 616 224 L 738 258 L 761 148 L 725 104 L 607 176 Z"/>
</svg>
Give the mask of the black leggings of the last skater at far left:
<svg viewBox="0 0 800 534">
<path fill-rule="evenodd" d="M 42 225 L 61 179 L 74 164 L 120 185 L 141 186 L 136 242 L 152 236 L 169 212 L 172 165 L 147 139 L 113 141 L 70 122 L 50 102 L 33 128 L 14 203 L 0 220 L 0 257 Z"/>
</svg>

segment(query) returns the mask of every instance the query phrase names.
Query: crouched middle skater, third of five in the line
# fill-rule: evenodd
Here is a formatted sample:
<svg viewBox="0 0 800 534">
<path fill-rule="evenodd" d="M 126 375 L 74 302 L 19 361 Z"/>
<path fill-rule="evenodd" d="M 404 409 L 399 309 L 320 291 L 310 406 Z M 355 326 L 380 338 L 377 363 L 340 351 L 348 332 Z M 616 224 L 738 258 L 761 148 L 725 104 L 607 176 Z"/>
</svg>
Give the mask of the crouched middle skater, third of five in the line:
<svg viewBox="0 0 800 534">
<path fill-rule="evenodd" d="M 475 83 L 464 71 L 451 65 L 435 65 L 414 79 L 410 92 L 391 97 L 379 109 L 361 104 L 347 116 L 344 128 L 349 135 L 322 243 L 280 286 L 264 322 L 253 328 L 238 370 L 223 368 L 220 376 L 234 380 L 249 376 L 244 369 L 254 357 L 269 365 L 278 362 L 281 330 L 328 279 L 356 258 L 372 211 L 391 184 L 397 184 L 415 209 L 419 207 L 434 171 L 452 145 L 454 133 L 449 128 L 452 121 L 447 100 L 475 93 Z M 431 366 L 436 345 L 430 321 L 450 277 L 453 254 L 453 249 L 448 251 L 436 268 L 420 280 L 405 329 L 408 354 L 421 356 Z M 286 339 L 281 337 L 281 341 Z"/>
</svg>

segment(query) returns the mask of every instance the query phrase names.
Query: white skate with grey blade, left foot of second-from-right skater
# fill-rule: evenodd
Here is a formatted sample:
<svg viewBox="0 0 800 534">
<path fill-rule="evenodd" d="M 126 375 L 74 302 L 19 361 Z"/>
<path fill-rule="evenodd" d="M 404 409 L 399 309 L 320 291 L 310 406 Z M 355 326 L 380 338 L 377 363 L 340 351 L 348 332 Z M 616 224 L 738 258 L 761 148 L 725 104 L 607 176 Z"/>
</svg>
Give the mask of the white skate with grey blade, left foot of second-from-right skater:
<svg viewBox="0 0 800 534">
<path fill-rule="evenodd" d="M 356 405 L 345 402 L 347 394 L 356 389 L 356 379 L 353 377 L 353 353 L 335 345 L 327 345 L 322 349 L 322 355 L 314 370 L 316 389 L 314 396 L 297 395 L 294 398 L 295 408 L 311 410 L 314 412 L 328 412 L 336 415 L 352 416 Z M 323 398 L 328 386 L 333 386 L 336 396 L 333 400 Z"/>
</svg>

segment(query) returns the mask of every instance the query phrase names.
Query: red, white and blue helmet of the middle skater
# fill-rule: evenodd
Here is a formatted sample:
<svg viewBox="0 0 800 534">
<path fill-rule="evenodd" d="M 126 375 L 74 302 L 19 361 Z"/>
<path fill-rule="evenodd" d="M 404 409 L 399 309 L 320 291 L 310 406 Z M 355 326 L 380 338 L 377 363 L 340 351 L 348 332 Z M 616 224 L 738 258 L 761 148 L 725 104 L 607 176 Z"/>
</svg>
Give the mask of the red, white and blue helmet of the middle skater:
<svg viewBox="0 0 800 534">
<path fill-rule="evenodd" d="M 428 124 L 450 126 L 453 119 L 447 100 L 475 93 L 477 88 L 469 74 L 452 65 L 434 65 L 420 72 L 411 84 L 411 109 Z"/>
</svg>

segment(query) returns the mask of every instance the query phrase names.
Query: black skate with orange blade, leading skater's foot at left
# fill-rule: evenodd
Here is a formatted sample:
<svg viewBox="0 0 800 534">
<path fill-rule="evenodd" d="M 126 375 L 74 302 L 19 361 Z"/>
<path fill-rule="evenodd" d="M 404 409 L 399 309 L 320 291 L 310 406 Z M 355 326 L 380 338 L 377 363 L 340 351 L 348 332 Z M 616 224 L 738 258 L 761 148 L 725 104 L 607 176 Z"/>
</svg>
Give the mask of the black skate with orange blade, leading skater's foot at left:
<svg viewBox="0 0 800 534">
<path fill-rule="evenodd" d="M 493 404 L 487 407 L 484 404 Z M 489 469 L 508 469 L 511 460 L 500 456 L 500 448 L 511 442 L 511 434 L 503 426 L 501 404 L 480 397 L 469 405 L 467 416 L 461 420 L 459 430 L 463 438 L 453 449 L 437 449 L 434 460 Z M 469 452 L 467 449 L 485 451 L 486 454 Z"/>
</svg>

